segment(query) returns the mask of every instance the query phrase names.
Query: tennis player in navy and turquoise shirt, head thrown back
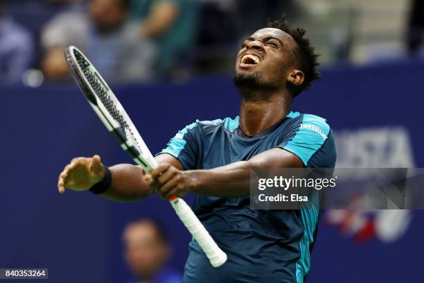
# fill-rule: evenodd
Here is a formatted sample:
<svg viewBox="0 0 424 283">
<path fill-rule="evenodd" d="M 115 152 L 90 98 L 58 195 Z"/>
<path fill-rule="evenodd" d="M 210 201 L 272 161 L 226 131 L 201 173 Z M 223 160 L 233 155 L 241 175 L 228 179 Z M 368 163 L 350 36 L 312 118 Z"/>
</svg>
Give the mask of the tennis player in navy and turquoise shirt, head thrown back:
<svg viewBox="0 0 424 283">
<path fill-rule="evenodd" d="M 105 167 L 100 157 L 71 161 L 58 180 L 120 201 L 196 194 L 193 210 L 228 261 L 213 268 L 191 241 L 184 282 L 303 282 L 310 268 L 319 210 L 254 210 L 249 174 L 258 168 L 333 168 L 326 120 L 291 110 L 319 78 L 317 55 L 301 28 L 285 20 L 256 31 L 241 46 L 233 81 L 242 96 L 235 119 L 195 121 L 180 130 L 145 174 L 139 166 Z"/>
</svg>

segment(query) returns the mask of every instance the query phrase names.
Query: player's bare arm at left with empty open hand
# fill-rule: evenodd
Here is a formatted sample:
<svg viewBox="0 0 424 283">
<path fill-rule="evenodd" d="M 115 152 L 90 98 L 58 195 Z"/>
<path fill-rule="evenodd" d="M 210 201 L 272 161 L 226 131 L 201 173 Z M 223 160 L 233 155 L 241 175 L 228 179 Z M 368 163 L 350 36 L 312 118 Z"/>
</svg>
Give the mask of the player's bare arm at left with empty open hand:
<svg viewBox="0 0 424 283">
<path fill-rule="evenodd" d="M 168 154 L 161 154 L 156 157 L 158 164 L 166 162 L 173 167 L 182 170 L 179 161 Z M 147 198 L 152 191 L 150 181 L 145 180 L 145 173 L 136 165 L 118 164 L 111 166 L 112 183 L 109 188 L 100 196 L 117 201 L 135 201 Z M 87 191 L 97 182 L 105 177 L 103 164 L 100 157 L 78 157 L 74 158 L 60 173 L 58 180 L 58 190 L 61 194 L 65 188 L 74 191 Z"/>
</svg>

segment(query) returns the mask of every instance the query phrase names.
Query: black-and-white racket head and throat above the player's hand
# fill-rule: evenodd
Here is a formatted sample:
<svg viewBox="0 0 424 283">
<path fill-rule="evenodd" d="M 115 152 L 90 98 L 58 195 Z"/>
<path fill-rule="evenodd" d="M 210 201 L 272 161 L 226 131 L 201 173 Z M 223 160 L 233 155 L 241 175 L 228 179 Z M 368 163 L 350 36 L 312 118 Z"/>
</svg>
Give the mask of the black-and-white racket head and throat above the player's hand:
<svg viewBox="0 0 424 283">
<path fill-rule="evenodd" d="M 107 130 L 116 137 L 121 147 L 143 170 L 149 172 L 156 167 L 157 162 L 134 123 L 87 57 L 75 46 L 65 49 L 64 55 L 77 85 Z"/>
</svg>

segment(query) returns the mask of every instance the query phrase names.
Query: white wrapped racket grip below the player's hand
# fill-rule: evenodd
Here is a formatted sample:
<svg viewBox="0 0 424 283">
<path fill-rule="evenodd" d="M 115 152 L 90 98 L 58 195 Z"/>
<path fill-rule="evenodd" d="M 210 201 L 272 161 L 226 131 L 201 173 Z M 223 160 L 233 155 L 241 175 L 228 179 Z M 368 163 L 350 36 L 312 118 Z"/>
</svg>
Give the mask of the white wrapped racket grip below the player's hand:
<svg viewBox="0 0 424 283">
<path fill-rule="evenodd" d="M 194 214 L 191 207 L 182 198 L 170 200 L 175 212 L 186 226 L 188 231 L 193 235 L 193 238 L 199 243 L 206 257 L 208 257 L 213 267 L 222 266 L 227 261 L 227 254 L 213 241 L 209 232 L 204 228 L 199 218 Z"/>
</svg>

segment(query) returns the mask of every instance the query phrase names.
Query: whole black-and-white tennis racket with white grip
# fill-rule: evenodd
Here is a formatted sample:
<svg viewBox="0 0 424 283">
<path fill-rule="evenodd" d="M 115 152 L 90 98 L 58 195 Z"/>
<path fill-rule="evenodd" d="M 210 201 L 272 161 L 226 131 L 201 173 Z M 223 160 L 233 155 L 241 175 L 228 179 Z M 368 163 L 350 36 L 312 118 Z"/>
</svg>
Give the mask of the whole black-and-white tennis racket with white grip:
<svg viewBox="0 0 424 283">
<path fill-rule="evenodd" d="M 144 171 L 149 172 L 154 169 L 157 162 L 152 153 L 96 68 L 75 46 L 69 46 L 64 55 L 73 78 L 107 130 L 116 137 L 121 147 Z M 169 201 L 188 231 L 204 250 L 211 265 L 218 267 L 224 264 L 227 261 L 227 255 L 213 241 L 187 203 L 177 196 L 173 196 Z"/>
</svg>

